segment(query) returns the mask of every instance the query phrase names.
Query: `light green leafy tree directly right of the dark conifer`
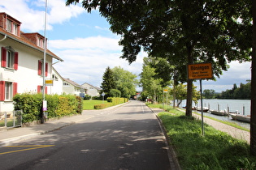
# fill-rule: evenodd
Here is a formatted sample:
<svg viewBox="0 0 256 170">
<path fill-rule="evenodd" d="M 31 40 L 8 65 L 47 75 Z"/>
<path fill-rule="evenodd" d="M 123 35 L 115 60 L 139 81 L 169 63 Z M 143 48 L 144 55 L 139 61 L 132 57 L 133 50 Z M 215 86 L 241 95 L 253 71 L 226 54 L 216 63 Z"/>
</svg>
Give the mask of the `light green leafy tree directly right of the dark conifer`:
<svg viewBox="0 0 256 170">
<path fill-rule="evenodd" d="M 121 97 L 130 98 L 136 94 L 137 75 L 132 74 L 128 70 L 115 66 L 111 69 L 116 83 L 116 89 L 121 91 Z"/>
</svg>

